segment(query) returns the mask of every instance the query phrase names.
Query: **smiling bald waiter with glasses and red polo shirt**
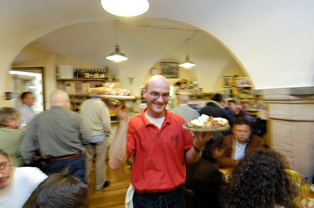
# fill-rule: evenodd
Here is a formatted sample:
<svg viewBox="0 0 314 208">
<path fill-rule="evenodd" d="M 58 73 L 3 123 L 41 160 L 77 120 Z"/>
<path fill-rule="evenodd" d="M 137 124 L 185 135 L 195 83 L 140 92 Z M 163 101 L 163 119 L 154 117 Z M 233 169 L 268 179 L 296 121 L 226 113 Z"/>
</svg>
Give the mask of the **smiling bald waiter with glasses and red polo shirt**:
<svg viewBox="0 0 314 208">
<path fill-rule="evenodd" d="M 182 128 L 185 120 L 165 109 L 170 84 L 164 76 L 152 76 L 143 89 L 143 96 L 147 107 L 130 119 L 124 104 L 114 107 L 105 101 L 120 118 L 109 150 L 109 165 L 117 169 L 134 155 L 130 186 L 134 186 L 134 192 L 129 197 L 134 207 L 185 207 L 183 160 L 197 161 L 210 133 L 195 132 L 193 140 L 191 132 Z"/>
</svg>

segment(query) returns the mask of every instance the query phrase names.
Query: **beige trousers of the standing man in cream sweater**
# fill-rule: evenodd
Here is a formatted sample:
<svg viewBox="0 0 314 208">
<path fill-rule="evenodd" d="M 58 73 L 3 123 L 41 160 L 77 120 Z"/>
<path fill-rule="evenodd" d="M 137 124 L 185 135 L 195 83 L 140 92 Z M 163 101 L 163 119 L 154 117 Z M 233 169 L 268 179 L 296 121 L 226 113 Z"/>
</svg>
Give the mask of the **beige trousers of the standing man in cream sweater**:
<svg viewBox="0 0 314 208">
<path fill-rule="evenodd" d="M 106 181 L 106 156 L 107 156 L 107 143 L 108 137 L 96 143 L 89 143 L 86 145 L 86 185 L 89 185 L 89 173 L 93 165 L 93 157 L 96 154 L 96 190 L 100 190 Z"/>
</svg>

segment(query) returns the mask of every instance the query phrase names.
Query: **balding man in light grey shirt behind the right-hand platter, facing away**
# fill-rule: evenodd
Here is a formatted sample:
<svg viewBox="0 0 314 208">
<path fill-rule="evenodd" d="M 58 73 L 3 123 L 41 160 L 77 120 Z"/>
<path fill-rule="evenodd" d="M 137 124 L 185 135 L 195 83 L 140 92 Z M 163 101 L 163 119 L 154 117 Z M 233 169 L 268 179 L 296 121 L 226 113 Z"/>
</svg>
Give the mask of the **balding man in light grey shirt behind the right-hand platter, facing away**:
<svg viewBox="0 0 314 208">
<path fill-rule="evenodd" d="M 172 113 L 181 115 L 186 122 L 197 119 L 200 116 L 197 110 L 192 109 L 187 104 L 189 101 L 190 97 L 188 95 L 181 94 L 178 97 L 178 105 L 180 105 L 180 107 L 171 110 Z"/>
</svg>

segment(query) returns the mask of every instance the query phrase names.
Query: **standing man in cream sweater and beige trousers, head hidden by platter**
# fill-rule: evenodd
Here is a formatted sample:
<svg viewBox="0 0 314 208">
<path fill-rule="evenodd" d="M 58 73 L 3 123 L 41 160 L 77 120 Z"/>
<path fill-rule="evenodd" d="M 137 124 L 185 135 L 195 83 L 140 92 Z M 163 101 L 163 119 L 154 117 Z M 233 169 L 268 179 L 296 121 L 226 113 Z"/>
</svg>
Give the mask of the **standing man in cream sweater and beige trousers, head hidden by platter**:
<svg viewBox="0 0 314 208">
<path fill-rule="evenodd" d="M 102 86 L 102 85 L 101 85 Z M 101 98 L 91 98 L 81 105 L 80 114 L 91 128 L 93 140 L 86 147 L 86 184 L 89 185 L 89 173 L 96 154 L 96 190 L 109 185 L 106 181 L 107 139 L 111 134 L 111 119 L 108 107 Z"/>
</svg>

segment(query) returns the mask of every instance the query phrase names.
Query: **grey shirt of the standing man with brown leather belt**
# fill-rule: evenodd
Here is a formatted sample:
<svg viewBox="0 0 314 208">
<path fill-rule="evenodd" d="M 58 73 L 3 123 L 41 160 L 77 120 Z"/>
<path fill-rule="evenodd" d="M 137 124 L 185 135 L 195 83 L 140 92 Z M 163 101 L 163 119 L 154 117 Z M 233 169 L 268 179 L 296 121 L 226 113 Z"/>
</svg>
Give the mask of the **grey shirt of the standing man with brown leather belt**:
<svg viewBox="0 0 314 208">
<path fill-rule="evenodd" d="M 27 164 L 34 162 L 39 150 L 42 158 L 62 157 L 84 150 L 93 139 L 83 117 L 62 106 L 37 114 L 22 143 L 21 154 Z"/>
</svg>

